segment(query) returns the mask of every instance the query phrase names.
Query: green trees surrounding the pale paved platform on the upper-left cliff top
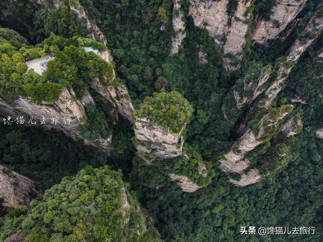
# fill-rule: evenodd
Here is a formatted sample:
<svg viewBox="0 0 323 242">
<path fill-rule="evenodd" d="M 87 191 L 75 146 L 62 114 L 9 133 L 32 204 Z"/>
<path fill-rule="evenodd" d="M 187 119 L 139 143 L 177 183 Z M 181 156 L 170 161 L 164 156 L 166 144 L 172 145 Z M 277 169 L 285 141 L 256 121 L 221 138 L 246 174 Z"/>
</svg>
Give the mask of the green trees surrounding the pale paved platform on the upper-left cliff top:
<svg viewBox="0 0 323 242">
<path fill-rule="evenodd" d="M 2 28 L 0 31 L 3 37 L 14 37 L 12 41 L 0 39 L 0 96 L 6 100 L 21 95 L 29 96 L 37 103 L 51 103 L 59 98 L 64 86 L 72 88 L 76 96 L 81 97 L 92 78 L 106 82 L 112 77 L 113 67 L 94 52 L 86 52 L 83 48 L 91 46 L 104 50 L 102 43 L 79 36 L 66 39 L 52 34 L 41 47 L 33 47 L 12 30 Z M 41 76 L 33 70 L 27 71 L 25 61 L 46 53 L 54 53 L 55 58 L 47 63 L 47 70 Z"/>
</svg>

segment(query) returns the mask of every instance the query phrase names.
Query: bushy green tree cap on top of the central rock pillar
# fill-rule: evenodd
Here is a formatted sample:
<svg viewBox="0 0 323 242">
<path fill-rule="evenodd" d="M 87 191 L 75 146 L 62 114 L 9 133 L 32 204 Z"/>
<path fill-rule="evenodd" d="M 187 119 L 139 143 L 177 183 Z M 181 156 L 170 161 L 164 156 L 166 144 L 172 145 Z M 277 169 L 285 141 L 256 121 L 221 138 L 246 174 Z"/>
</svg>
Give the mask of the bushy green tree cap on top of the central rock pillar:
<svg viewBox="0 0 323 242">
<path fill-rule="evenodd" d="M 180 132 L 193 111 L 189 102 L 178 92 L 154 92 L 146 97 L 135 111 L 137 118 L 147 118 L 153 125 L 167 128 L 172 133 Z"/>
</svg>

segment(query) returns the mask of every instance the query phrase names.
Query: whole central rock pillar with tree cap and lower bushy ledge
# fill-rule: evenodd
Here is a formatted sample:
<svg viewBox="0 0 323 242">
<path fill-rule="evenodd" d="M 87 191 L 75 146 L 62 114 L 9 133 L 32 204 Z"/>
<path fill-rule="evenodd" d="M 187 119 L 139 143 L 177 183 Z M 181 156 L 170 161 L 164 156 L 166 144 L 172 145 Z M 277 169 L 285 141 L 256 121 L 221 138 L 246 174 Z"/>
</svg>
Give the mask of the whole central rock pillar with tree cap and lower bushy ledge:
<svg viewBox="0 0 323 242">
<path fill-rule="evenodd" d="M 143 170 L 149 169 L 147 165 L 157 169 L 158 174 L 178 181 L 184 192 L 195 192 L 212 177 L 200 155 L 183 151 L 182 134 L 192 111 L 181 94 L 160 92 L 146 97 L 133 115 L 138 166 L 143 166 Z"/>
</svg>

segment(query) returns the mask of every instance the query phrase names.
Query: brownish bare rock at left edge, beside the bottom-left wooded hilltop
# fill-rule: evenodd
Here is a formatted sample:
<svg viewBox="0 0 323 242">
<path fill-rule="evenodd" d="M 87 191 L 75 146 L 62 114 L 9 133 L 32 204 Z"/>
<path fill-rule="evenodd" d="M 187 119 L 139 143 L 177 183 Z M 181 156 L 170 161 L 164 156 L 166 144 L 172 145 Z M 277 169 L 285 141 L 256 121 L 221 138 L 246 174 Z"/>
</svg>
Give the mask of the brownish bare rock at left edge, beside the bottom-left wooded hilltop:
<svg viewBox="0 0 323 242">
<path fill-rule="evenodd" d="M 31 199 L 42 196 L 36 183 L 15 171 L 0 165 L 0 205 L 14 208 L 17 205 L 28 206 Z"/>
</svg>

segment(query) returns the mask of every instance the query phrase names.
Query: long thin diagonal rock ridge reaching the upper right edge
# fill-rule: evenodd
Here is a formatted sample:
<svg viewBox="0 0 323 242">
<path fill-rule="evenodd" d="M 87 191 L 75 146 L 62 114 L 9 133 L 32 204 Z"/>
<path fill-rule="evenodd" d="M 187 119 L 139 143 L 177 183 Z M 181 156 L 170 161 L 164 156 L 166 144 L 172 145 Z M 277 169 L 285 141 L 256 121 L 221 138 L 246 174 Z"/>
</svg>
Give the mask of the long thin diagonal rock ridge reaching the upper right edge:
<svg viewBox="0 0 323 242">
<path fill-rule="evenodd" d="M 277 75 L 271 86 L 266 90 L 266 97 L 259 102 L 259 107 L 268 108 L 272 101 L 276 98 L 282 89 L 283 82 L 288 78 L 288 75 L 301 54 L 312 44 L 319 36 L 323 29 L 323 17 L 321 16 L 322 8 L 319 8 L 309 20 L 307 26 L 301 33 L 304 39 L 296 39 L 293 45 L 289 48 L 287 58 L 282 58 L 277 65 Z"/>
</svg>

